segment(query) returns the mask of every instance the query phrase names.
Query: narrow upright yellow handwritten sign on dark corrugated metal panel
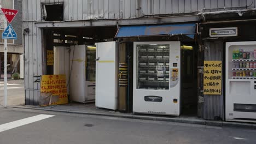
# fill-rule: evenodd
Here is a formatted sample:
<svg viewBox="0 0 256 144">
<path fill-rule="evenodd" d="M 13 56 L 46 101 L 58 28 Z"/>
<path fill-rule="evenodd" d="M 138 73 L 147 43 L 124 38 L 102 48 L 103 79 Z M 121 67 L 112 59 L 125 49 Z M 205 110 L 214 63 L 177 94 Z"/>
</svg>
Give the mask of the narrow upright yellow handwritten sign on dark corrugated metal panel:
<svg viewBox="0 0 256 144">
<path fill-rule="evenodd" d="M 204 62 L 203 94 L 222 94 L 222 61 Z"/>
</svg>

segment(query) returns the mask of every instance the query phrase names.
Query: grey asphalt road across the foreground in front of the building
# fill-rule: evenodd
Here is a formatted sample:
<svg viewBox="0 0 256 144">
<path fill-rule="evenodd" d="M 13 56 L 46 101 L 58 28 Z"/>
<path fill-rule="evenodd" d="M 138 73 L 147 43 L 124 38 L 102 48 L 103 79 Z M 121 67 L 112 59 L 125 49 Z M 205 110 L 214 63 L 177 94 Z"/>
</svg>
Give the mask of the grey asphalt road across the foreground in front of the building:
<svg viewBox="0 0 256 144">
<path fill-rule="evenodd" d="M 0 131 L 42 113 L 54 116 L 2 131 L 0 143 L 256 143 L 253 129 L 18 109 L 0 109 Z"/>
</svg>

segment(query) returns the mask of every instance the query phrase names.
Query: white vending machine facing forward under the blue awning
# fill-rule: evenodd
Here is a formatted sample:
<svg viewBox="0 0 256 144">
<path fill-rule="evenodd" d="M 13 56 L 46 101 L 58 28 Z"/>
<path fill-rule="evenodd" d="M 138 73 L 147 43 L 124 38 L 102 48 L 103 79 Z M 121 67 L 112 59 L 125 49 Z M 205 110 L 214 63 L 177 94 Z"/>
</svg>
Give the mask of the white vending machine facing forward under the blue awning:
<svg viewBox="0 0 256 144">
<path fill-rule="evenodd" d="M 179 41 L 133 44 L 133 112 L 180 114 L 181 46 Z"/>
</svg>

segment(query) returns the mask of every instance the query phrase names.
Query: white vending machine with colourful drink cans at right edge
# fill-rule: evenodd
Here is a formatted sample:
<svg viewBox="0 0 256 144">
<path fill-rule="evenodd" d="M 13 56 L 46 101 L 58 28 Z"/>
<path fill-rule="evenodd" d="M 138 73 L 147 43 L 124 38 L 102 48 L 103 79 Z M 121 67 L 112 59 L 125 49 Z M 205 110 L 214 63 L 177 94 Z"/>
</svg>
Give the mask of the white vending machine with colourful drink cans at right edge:
<svg viewBox="0 0 256 144">
<path fill-rule="evenodd" d="M 256 122 L 256 41 L 226 43 L 226 121 Z"/>
</svg>

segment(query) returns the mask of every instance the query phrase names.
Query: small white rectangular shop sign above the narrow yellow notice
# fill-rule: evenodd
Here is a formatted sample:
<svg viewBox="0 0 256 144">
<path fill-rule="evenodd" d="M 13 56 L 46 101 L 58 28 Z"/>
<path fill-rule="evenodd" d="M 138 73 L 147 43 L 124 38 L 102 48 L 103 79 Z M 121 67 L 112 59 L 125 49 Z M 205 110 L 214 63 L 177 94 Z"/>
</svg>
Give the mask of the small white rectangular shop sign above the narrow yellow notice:
<svg viewBox="0 0 256 144">
<path fill-rule="evenodd" d="M 210 37 L 235 37 L 237 27 L 210 28 Z"/>
</svg>

